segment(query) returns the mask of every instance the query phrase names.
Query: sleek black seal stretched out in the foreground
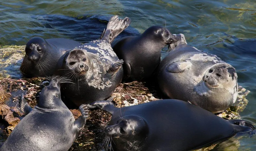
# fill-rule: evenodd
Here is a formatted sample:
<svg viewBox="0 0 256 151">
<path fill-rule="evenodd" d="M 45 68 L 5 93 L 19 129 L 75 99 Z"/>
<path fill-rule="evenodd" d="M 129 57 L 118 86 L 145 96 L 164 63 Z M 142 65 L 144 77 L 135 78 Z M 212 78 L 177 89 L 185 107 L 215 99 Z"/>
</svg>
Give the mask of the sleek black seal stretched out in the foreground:
<svg viewBox="0 0 256 151">
<path fill-rule="evenodd" d="M 238 132 L 254 132 L 243 120 L 225 120 L 180 100 L 159 100 L 116 108 L 110 101 L 92 106 L 112 115 L 104 128 L 116 151 L 187 151 L 223 141 Z M 246 125 L 246 126 L 244 126 Z"/>
</svg>

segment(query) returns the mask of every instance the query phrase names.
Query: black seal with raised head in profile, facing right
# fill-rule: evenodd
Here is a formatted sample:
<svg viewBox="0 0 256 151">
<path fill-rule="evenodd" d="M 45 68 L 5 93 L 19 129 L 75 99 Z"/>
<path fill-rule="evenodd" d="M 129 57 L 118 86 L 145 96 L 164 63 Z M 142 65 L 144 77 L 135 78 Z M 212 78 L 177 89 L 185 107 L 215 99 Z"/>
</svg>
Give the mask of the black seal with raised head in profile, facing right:
<svg viewBox="0 0 256 151">
<path fill-rule="evenodd" d="M 113 50 L 124 60 L 124 78 L 150 77 L 161 62 L 161 50 L 176 41 L 178 38 L 168 29 L 151 26 L 139 36 L 127 36 L 115 42 Z"/>
</svg>

